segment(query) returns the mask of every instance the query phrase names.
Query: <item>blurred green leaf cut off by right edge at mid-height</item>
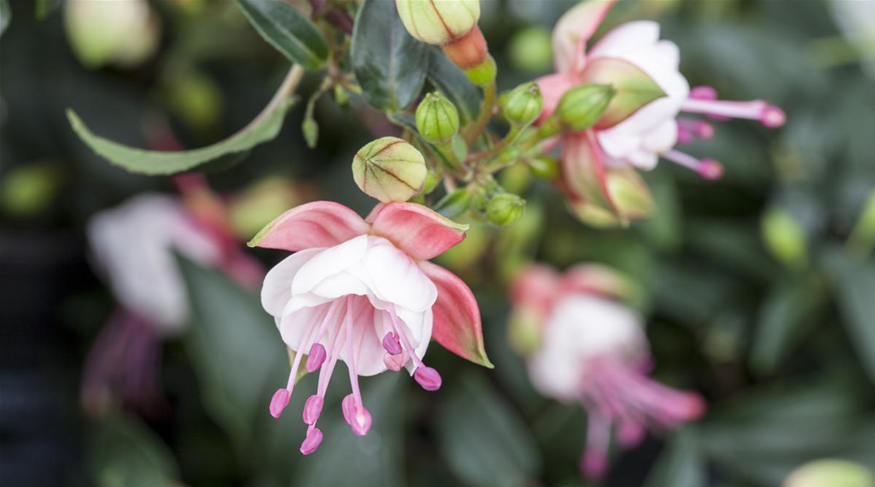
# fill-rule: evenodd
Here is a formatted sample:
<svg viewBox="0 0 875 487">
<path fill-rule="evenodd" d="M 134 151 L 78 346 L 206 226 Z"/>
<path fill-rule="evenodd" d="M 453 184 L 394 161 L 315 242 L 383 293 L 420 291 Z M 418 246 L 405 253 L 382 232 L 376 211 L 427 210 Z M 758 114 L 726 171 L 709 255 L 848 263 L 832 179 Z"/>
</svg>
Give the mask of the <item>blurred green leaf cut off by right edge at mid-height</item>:
<svg viewBox="0 0 875 487">
<path fill-rule="evenodd" d="M 857 262 L 839 249 L 828 254 L 826 265 L 835 282 L 839 311 L 851 343 L 875 383 L 875 265 Z"/>
</svg>

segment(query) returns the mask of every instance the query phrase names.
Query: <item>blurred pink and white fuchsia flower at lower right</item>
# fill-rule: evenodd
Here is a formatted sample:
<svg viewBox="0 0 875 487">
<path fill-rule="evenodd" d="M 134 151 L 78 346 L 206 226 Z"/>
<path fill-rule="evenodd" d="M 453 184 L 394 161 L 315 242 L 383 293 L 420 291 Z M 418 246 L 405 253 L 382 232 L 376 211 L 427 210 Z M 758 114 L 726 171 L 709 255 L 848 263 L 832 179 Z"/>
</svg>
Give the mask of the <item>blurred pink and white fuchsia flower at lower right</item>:
<svg viewBox="0 0 875 487">
<path fill-rule="evenodd" d="M 651 363 L 641 316 L 619 299 L 636 290 L 607 268 L 580 265 L 564 275 L 533 265 L 514 282 L 511 327 L 533 330 L 528 350 L 532 383 L 545 396 L 577 402 L 589 416 L 580 468 L 590 478 L 607 468 L 612 426 L 624 448 L 649 429 L 674 428 L 705 409 L 696 393 L 647 377 Z"/>
</svg>

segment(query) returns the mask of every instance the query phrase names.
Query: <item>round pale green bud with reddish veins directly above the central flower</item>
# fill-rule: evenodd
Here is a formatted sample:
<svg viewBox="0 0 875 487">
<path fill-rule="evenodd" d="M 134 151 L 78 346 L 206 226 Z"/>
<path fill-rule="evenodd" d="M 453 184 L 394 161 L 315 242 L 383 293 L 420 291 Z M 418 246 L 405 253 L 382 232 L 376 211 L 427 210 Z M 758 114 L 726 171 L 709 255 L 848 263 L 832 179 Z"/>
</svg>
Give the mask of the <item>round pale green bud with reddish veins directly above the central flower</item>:
<svg viewBox="0 0 875 487">
<path fill-rule="evenodd" d="M 422 189 L 427 173 L 422 154 L 396 137 L 369 143 L 352 161 L 355 183 L 383 203 L 409 200 Z"/>
</svg>

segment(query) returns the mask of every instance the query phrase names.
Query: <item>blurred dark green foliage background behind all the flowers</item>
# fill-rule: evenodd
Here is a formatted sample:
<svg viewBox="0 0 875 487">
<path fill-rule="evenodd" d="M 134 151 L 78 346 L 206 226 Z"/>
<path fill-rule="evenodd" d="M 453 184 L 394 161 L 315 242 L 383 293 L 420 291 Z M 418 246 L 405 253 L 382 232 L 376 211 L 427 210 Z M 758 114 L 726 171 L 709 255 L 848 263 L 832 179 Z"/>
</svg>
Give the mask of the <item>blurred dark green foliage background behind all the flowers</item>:
<svg viewBox="0 0 875 487">
<path fill-rule="evenodd" d="M 84 223 L 172 186 L 100 159 L 64 114 L 72 107 L 95 132 L 136 147 L 168 127 L 183 146 L 200 147 L 246 125 L 287 62 L 224 0 L 151 2 L 162 26 L 157 54 L 100 69 L 73 55 L 55 2 L 0 3 L 0 23 L 12 16 L 0 38 L 4 486 L 583 487 L 584 413 L 539 397 L 508 346 L 508 278 L 532 258 L 603 262 L 635 276 L 648 290 L 656 377 L 709 402 L 700 422 L 618 453 L 604 485 L 777 486 L 819 458 L 875 468 L 875 52 L 856 42 L 872 38 L 872 25 L 867 33 L 836 22 L 847 5 L 622 2 L 610 21 L 659 20 L 692 85 L 767 99 L 785 109 L 787 125 L 721 125 L 691 152 L 722 161 L 725 177 L 706 182 L 662 164 L 646 175 L 658 213 L 628 230 L 588 229 L 527 169 L 503 173 L 502 185 L 529 201 L 523 221 L 475 225 L 442 260 L 478 296 L 495 370 L 434 347 L 438 393 L 394 375 L 365 380 L 374 428 L 364 438 L 343 427 L 343 387 L 331 387 L 324 446 L 302 457 L 296 415 L 266 414 L 287 360 L 272 320 L 257 296 L 188 262 L 192 326 L 167 344 L 161 364 L 169 407 L 148 417 L 81 413 L 83 357 L 113 308 L 87 266 Z M 549 29 L 572 4 L 483 1 L 500 89 L 550 70 Z M 303 86 L 306 100 L 318 79 Z M 360 100 L 330 97 L 314 107 L 314 148 L 299 104 L 245 164 L 209 173 L 241 240 L 315 198 L 370 209 L 349 164 L 394 129 Z M 281 258 L 254 253 L 270 265 Z M 315 379 L 300 387 L 312 390 Z M 291 410 L 306 397 L 296 395 Z"/>
</svg>

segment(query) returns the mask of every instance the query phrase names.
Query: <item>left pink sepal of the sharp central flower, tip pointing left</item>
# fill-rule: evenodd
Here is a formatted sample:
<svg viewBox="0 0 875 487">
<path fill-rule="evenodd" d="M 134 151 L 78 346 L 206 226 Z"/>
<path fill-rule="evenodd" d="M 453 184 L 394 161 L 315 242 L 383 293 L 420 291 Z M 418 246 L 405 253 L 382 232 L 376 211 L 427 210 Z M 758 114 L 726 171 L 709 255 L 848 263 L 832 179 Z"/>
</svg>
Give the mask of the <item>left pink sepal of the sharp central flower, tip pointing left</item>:
<svg viewBox="0 0 875 487">
<path fill-rule="evenodd" d="M 258 232 L 248 245 L 297 252 L 332 247 L 369 230 L 362 217 L 340 203 L 314 201 L 283 213 Z"/>
</svg>

